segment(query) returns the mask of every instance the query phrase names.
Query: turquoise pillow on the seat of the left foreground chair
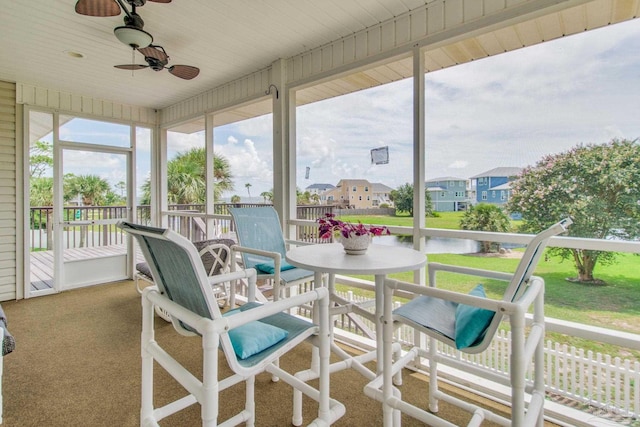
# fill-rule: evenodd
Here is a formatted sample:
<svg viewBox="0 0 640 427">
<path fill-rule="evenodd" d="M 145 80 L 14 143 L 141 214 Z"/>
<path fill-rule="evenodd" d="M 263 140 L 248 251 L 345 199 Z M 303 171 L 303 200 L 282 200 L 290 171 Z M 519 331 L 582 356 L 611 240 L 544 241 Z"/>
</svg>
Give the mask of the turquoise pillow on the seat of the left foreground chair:
<svg viewBox="0 0 640 427">
<path fill-rule="evenodd" d="M 223 314 L 236 314 L 240 309 Z M 287 338 L 289 332 L 277 326 L 254 320 L 229 331 L 229 340 L 238 359 L 244 360 Z"/>
</svg>

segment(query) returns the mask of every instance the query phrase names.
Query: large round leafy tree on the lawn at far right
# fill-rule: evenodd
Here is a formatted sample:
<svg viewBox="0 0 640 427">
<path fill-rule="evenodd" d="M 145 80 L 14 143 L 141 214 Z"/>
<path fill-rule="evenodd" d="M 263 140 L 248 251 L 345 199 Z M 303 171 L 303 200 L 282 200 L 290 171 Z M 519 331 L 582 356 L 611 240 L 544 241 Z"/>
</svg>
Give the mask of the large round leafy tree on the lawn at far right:
<svg viewBox="0 0 640 427">
<path fill-rule="evenodd" d="M 525 232 L 539 232 L 570 215 L 570 236 L 634 240 L 640 235 L 638 140 L 580 144 L 546 156 L 525 169 L 511 188 L 508 208 L 522 214 Z M 550 252 L 572 259 L 580 282 L 595 281 L 597 263 L 615 261 L 612 252 L 563 248 Z"/>
</svg>

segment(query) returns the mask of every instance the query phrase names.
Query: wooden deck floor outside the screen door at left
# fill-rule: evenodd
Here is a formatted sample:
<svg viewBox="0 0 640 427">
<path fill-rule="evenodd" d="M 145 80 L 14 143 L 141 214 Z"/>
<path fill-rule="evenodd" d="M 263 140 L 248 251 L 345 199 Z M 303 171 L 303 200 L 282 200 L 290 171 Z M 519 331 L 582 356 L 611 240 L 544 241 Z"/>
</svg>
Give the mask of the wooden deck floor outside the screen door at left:
<svg viewBox="0 0 640 427">
<path fill-rule="evenodd" d="M 139 251 L 138 251 L 139 252 Z M 100 258 L 104 256 L 123 255 L 127 253 L 126 245 L 101 246 L 94 248 L 65 249 L 64 261 Z M 143 260 L 137 254 L 138 262 Z M 53 251 L 31 252 L 31 290 L 38 291 L 53 288 Z"/>
</svg>

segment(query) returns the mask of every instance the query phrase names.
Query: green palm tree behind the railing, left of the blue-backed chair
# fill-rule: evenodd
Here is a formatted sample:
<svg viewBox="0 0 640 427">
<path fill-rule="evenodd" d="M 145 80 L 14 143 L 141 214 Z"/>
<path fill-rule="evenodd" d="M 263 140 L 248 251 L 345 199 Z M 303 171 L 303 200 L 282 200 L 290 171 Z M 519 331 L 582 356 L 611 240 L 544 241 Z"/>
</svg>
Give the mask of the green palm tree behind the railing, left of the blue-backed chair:
<svg viewBox="0 0 640 427">
<path fill-rule="evenodd" d="M 192 148 L 178 153 L 167 162 L 167 193 L 169 203 L 193 204 L 204 203 L 206 194 L 205 182 L 206 150 Z M 213 189 L 214 200 L 220 200 L 225 191 L 233 190 L 233 176 L 229 161 L 214 155 L 213 157 Z M 142 184 L 140 204 L 151 203 L 151 180 Z"/>
</svg>

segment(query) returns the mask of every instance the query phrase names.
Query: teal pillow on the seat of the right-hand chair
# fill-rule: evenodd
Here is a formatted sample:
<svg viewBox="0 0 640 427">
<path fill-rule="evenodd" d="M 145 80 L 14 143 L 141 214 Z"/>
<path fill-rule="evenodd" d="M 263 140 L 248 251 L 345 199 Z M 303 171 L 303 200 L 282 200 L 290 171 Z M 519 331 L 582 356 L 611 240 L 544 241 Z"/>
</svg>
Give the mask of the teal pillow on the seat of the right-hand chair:
<svg viewBox="0 0 640 427">
<path fill-rule="evenodd" d="M 477 285 L 469 295 L 486 298 L 482 285 Z M 455 315 L 455 341 L 458 350 L 471 347 L 484 336 L 496 313 L 484 308 L 459 304 Z"/>
</svg>

